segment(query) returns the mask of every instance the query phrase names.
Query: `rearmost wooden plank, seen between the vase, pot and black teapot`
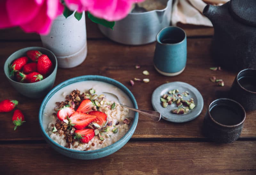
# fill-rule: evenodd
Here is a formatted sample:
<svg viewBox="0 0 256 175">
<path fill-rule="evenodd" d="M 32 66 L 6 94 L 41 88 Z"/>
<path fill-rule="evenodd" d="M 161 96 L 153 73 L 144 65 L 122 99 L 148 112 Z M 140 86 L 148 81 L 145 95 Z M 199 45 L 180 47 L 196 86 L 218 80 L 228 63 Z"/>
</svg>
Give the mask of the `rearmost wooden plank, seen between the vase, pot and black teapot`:
<svg viewBox="0 0 256 175">
<path fill-rule="evenodd" d="M 100 32 L 97 24 L 93 23 L 89 18 L 86 17 L 86 32 L 87 39 L 103 39 L 106 37 Z M 201 37 L 201 36 L 212 36 L 213 28 L 205 26 L 195 26 L 187 24 L 178 24 L 179 27 L 183 28 L 188 37 Z M 25 33 L 20 28 L 7 28 L 0 30 L 0 40 L 17 41 L 17 40 L 40 40 L 40 36 L 36 33 Z"/>
</svg>

